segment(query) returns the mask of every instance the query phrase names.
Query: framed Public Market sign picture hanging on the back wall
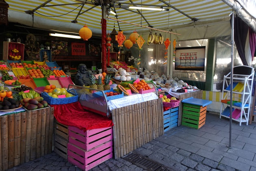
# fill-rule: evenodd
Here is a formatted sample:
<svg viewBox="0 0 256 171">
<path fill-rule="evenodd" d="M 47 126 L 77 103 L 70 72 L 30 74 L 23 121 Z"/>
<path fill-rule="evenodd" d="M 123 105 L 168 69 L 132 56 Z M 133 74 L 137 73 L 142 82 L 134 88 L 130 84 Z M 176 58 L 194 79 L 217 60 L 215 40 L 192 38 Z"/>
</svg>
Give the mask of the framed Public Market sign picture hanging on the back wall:
<svg viewBox="0 0 256 171">
<path fill-rule="evenodd" d="M 205 46 L 176 48 L 175 70 L 204 71 Z"/>
</svg>

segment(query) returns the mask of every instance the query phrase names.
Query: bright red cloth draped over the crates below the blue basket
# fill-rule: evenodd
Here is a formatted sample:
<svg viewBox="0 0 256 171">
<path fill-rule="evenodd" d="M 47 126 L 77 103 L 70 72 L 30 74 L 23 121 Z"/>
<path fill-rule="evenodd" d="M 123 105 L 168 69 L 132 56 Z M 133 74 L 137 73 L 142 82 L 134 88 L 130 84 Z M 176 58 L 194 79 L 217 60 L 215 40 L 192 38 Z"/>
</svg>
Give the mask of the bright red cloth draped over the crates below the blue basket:
<svg viewBox="0 0 256 171">
<path fill-rule="evenodd" d="M 56 120 L 66 126 L 75 126 L 86 131 L 114 125 L 108 117 L 85 111 L 80 102 L 53 104 L 51 107 L 54 107 Z"/>
</svg>

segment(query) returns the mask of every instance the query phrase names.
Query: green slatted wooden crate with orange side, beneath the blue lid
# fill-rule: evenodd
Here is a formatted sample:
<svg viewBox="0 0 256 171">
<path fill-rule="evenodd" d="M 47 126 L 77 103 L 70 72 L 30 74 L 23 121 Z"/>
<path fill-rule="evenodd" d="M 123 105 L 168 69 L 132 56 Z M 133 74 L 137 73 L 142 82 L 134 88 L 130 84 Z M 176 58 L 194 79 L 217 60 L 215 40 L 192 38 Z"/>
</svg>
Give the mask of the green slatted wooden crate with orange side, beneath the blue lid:
<svg viewBox="0 0 256 171">
<path fill-rule="evenodd" d="M 182 125 L 199 129 L 205 123 L 206 106 L 183 103 Z"/>
</svg>

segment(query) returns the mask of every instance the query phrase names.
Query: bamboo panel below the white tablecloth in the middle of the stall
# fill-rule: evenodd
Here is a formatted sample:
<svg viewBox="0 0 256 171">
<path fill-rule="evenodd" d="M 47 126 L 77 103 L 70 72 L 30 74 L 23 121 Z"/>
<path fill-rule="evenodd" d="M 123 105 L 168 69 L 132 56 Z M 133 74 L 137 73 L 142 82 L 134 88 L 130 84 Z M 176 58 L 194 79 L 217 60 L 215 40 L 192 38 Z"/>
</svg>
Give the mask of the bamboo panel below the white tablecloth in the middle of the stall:
<svg viewBox="0 0 256 171">
<path fill-rule="evenodd" d="M 163 104 L 150 100 L 112 110 L 115 159 L 163 135 Z"/>
</svg>

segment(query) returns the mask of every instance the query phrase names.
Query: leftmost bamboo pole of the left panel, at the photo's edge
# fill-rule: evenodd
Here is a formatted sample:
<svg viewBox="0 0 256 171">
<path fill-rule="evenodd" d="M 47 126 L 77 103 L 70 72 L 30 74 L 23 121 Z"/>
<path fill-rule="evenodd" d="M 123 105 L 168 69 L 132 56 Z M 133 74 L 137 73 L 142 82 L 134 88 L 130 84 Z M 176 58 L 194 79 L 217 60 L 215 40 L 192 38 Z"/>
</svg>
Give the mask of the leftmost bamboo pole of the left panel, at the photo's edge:
<svg viewBox="0 0 256 171">
<path fill-rule="evenodd" d="M 2 170 L 7 170 L 8 163 L 8 116 L 1 116 Z"/>
</svg>

